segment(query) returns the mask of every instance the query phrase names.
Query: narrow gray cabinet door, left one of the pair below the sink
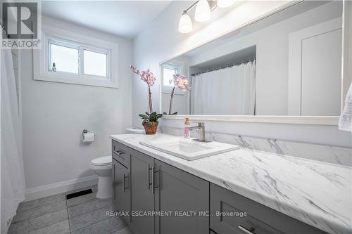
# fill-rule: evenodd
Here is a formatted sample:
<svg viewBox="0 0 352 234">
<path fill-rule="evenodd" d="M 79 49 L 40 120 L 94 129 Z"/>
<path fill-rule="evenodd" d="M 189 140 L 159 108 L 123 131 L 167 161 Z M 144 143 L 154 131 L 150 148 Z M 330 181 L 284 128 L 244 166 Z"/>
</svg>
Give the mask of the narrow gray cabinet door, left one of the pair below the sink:
<svg viewBox="0 0 352 234">
<path fill-rule="evenodd" d="M 153 157 L 131 150 L 131 207 L 132 212 L 153 212 L 154 194 L 151 189 Z M 136 213 L 137 214 L 137 213 Z M 150 215 L 131 216 L 134 233 L 153 234 L 154 217 Z"/>
</svg>

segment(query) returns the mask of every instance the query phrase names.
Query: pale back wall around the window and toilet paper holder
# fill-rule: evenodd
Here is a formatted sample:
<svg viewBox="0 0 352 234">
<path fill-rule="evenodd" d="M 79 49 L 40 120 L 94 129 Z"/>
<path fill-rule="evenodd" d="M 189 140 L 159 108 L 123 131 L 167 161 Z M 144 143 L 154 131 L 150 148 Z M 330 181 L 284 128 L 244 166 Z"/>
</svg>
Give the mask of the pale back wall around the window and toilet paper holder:
<svg viewBox="0 0 352 234">
<path fill-rule="evenodd" d="M 32 51 L 21 52 L 23 158 L 30 191 L 94 175 L 89 162 L 111 155 L 109 135 L 132 124 L 132 41 L 49 18 L 42 22 L 117 43 L 119 88 L 34 81 Z M 80 143 L 83 129 L 96 134 L 94 143 Z"/>
</svg>

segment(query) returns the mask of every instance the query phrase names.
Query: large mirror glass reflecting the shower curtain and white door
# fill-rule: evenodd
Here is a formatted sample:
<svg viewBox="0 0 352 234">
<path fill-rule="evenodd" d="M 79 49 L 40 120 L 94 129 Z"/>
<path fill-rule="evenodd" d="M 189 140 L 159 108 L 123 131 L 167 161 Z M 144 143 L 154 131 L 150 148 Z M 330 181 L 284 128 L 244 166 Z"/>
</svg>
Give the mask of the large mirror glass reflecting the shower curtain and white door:
<svg viewBox="0 0 352 234">
<path fill-rule="evenodd" d="M 303 1 L 163 63 L 163 112 L 340 115 L 341 15 L 342 1 Z M 173 74 L 191 89 L 170 112 Z"/>
</svg>

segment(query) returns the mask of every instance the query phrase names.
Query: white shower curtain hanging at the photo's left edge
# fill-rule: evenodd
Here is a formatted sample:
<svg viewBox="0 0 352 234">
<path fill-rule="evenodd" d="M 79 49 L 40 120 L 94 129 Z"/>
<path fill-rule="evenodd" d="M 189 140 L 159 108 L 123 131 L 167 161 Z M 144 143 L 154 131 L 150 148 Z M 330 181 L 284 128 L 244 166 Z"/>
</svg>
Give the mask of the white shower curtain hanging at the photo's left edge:
<svg viewBox="0 0 352 234">
<path fill-rule="evenodd" d="M 18 204 L 25 199 L 25 176 L 11 50 L 0 50 L 0 56 L 1 233 L 7 233 Z"/>
</svg>

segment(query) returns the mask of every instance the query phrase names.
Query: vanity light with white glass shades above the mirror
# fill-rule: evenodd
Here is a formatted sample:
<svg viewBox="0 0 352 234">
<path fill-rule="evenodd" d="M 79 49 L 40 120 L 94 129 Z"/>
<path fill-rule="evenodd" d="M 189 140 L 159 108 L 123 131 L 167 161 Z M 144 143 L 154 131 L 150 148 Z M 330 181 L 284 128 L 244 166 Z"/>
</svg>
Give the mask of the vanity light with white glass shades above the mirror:
<svg viewBox="0 0 352 234">
<path fill-rule="evenodd" d="M 236 0 L 198 0 L 194 2 L 189 8 L 183 11 L 180 22 L 178 24 L 178 30 L 181 33 L 188 33 L 193 30 L 192 20 L 189 16 L 188 11 L 196 6 L 196 12 L 194 13 L 194 20 L 198 22 L 206 22 L 211 18 L 211 11 L 217 6 L 225 8 L 232 6 Z"/>
</svg>

